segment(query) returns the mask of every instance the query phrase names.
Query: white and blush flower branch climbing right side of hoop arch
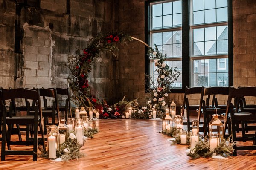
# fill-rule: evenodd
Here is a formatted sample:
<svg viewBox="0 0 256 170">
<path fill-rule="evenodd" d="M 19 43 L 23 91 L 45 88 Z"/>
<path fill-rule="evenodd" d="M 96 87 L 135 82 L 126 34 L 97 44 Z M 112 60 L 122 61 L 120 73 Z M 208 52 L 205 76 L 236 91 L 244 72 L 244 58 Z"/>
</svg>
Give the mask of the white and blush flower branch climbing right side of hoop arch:
<svg viewBox="0 0 256 170">
<path fill-rule="evenodd" d="M 166 105 L 165 98 L 170 93 L 170 88 L 174 81 L 176 81 L 180 72 L 177 67 L 174 69 L 170 68 L 166 64 L 166 54 L 163 55 L 157 45 L 154 45 L 154 49 L 149 47 L 148 55 L 151 59 L 154 59 L 156 70 L 158 73 L 157 81 L 155 82 L 152 78 L 148 76 L 153 90 L 151 91 L 151 101 L 148 101 L 148 105 L 151 105 L 154 109 L 157 110 L 157 115 L 160 118 L 163 118 L 164 107 Z"/>
</svg>

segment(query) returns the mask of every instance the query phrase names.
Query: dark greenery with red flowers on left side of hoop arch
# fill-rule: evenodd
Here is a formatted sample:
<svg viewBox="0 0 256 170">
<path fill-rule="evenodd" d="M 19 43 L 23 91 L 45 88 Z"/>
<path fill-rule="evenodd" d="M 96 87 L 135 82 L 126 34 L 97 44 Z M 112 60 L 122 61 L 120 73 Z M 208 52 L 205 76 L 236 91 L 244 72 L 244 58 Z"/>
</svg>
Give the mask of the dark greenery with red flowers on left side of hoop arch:
<svg viewBox="0 0 256 170">
<path fill-rule="evenodd" d="M 91 94 L 88 74 L 93 69 L 96 58 L 100 57 L 100 52 L 115 55 L 114 52 L 118 50 L 117 44 L 124 44 L 131 40 L 131 36 L 123 32 L 99 34 L 88 42 L 82 54 L 80 50 L 76 50 L 74 56 L 68 57 L 67 67 L 70 69 L 68 81 L 73 93 L 72 98 L 78 106 L 89 106 L 90 102 L 94 108 L 103 109 L 102 103 Z"/>
</svg>

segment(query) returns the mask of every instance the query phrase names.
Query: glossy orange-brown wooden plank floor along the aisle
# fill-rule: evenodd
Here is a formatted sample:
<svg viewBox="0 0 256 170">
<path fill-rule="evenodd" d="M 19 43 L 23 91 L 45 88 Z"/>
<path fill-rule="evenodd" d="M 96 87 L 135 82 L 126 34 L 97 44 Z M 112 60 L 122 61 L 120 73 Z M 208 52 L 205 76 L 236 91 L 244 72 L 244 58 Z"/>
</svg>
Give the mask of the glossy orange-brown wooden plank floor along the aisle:
<svg viewBox="0 0 256 170">
<path fill-rule="evenodd" d="M 196 160 L 186 156 L 186 146 L 172 145 L 163 136 L 160 120 L 98 120 L 100 132 L 81 151 L 86 157 L 54 162 L 32 156 L 6 156 L 0 170 L 255 170 L 256 151 L 238 151 L 227 160 Z"/>
</svg>

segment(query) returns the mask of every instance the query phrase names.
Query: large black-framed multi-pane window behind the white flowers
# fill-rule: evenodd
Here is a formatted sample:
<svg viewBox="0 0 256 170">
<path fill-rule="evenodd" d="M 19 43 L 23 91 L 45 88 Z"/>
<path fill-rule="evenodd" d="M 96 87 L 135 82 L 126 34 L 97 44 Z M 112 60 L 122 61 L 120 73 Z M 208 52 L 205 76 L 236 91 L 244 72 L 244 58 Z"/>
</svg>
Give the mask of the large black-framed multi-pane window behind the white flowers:
<svg viewBox="0 0 256 170">
<path fill-rule="evenodd" d="M 182 74 L 172 92 L 184 92 L 186 86 L 233 85 L 232 24 L 232 0 L 145 1 L 145 42 L 169 52 L 167 63 Z M 146 55 L 145 73 L 155 77 L 153 70 Z"/>
</svg>

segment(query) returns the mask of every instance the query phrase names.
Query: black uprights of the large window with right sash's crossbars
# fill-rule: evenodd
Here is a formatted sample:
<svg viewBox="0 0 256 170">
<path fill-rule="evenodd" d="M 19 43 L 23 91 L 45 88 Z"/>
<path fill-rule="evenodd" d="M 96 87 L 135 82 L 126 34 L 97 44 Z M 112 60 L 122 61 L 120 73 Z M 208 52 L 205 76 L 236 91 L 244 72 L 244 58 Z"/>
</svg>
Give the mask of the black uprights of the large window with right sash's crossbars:
<svg viewBox="0 0 256 170">
<path fill-rule="evenodd" d="M 154 2 L 164 2 L 167 0 L 145 0 L 145 43 L 149 43 L 149 20 L 150 20 L 150 3 Z M 168 0 L 169 1 L 169 0 Z M 182 6 L 182 88 L 171 88 L 172 93 L 183 93 L 185 91 L 185 87 L 191 87 L 192 82 L 192 75 L 193 75 L 193 66 L 192 66 L 192 53 L 191 53 L 191 38 L 192 38 L 192 28 L 198 28 L 201 24 L 190 25 L 192 23 L 192 14 L 190 14 L 192 10 L 192 0 L 181 0 Z M 227 0 L 227 22 L 221 23 L 206 23 L 204 25 L 208 26 L 221 26 L 226 25 L 228 26 L 228 55 L 215 55 L 216 58 L 228 58 L 228 84 L 229 86 L 233 86 L 233 9 L 232 9 L 232 0 Z M 148 58 L 148 47 L 145 47 L 145 74 L 151 75 L 150 73 L 150 61 Z M 212 55 L 208 55 L 204 57 L 193 57 L 193 59 L 209 59 Z M 149 79 L 145 77 L 146 84 L 149 84 Z M 149 87 L 145 86 L 145 92 L 148 92 Z"/>
</svg>

